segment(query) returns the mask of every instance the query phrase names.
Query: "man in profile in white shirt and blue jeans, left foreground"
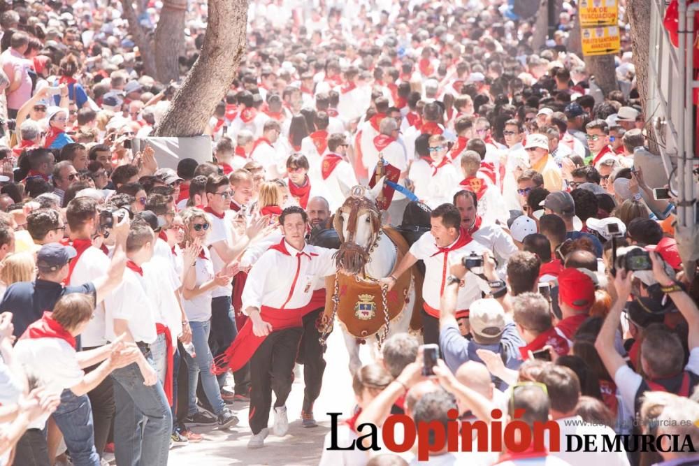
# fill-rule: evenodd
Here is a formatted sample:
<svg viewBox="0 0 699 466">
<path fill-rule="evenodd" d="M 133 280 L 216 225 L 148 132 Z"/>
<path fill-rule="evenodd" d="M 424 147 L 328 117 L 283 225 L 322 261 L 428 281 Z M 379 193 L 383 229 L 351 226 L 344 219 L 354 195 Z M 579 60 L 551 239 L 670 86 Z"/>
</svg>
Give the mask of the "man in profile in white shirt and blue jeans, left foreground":
<svg viewBox="0 0 699 466">
<path fill-rule="evenodd" d="M 120 465 L 166 465 L 168 461 L 172 414 L 150 352 L 157 338 L 157 310 L 141 268 L 152 258 L 155 239 L 145 221 L 131 224 L 124 279 L 105 300 L 107 340 L 125 333 L 124 341 L 135 342 L 142 353 L 136 363 L 112 373 L 115 456 Z"/>
</svg>

